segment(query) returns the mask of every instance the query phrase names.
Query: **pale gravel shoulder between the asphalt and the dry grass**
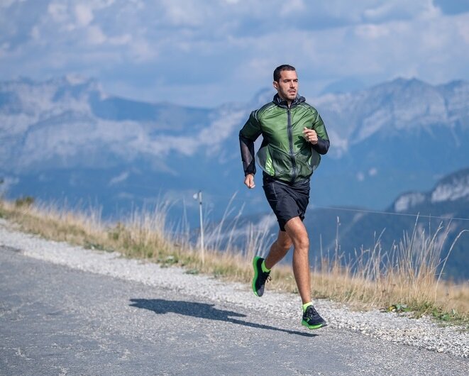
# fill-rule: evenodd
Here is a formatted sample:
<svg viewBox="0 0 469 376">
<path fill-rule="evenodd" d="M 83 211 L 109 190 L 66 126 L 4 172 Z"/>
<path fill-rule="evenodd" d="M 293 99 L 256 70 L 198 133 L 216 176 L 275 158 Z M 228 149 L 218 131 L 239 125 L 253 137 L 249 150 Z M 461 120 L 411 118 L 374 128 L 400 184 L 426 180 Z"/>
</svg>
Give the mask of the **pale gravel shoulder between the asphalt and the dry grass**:
<svg viewBox="0 0 469 376">
<path fill-rule="evenodd" d="M 151 262 L 129 260 L 118 253 L 106 253 L 75 247 L 67 243 L 44 240 L 21 233 L 9 222 L 0 219 L 0 246 L 17 250 L 28 258 L 65 265 L 75 270 L 107 275 L 121 280 L 180 292 L 214 304 L 224 302 L 241 310 L 259 313 L 275 312 L 282 320 L 292 321 L 297 330 L 300 302 L 294 294 L 269 292 L 262 299 L 255 297 L 245 284 L 221 282 L 204 275 L 189 275 L 182 268 L 160 267 Z M 342 304 L 318 299 L 316 309 L 328 321 L 326 330 L 341 329 L 360 336 L 380 338 L 399 345 L 414 346 L 457 358 L 469 357 L 469 333 L 457 326 L 439 326 L 428 318 L 409 319 L 381 311 L 351 311 Z"/>
</svg>

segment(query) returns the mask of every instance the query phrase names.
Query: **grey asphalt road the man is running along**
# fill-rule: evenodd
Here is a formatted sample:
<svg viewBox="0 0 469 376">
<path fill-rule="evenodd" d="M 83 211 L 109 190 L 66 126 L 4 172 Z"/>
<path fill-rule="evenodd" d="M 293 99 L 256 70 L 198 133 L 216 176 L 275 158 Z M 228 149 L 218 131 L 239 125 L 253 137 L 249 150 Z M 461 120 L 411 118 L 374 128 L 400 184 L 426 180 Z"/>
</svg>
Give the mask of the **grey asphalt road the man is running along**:
<svg viewBox="0 0 469 376">
<path fill-rule="evenodd" d="M 0 375 L 468 375 L 469 361 L 0 247 Z"/>
</svg>

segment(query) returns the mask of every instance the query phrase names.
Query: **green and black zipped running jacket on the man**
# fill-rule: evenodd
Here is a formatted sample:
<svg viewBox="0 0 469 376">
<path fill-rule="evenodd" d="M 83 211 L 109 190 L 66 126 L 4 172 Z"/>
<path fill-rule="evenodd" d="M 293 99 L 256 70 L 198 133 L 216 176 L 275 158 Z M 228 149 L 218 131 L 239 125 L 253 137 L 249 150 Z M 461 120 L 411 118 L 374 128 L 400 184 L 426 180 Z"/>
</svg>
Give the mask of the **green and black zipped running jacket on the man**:
<svg viewBox="0 0 469 376">
<path fill-rule="evenodd" d="M 303 129 L 314 129 L 318 143 L 303 137 Z M 254 141 L 263 135 L 263 143 L 254 158 Z M 253 111 L 239 133 L 244 174 L 255 174 L 255 162 L 271 177 L 294 183 L 309 179 L 329 150 L 329 137 L 318 111 L 297 96 L 287 106 L 278 94 L 272 102 Z"/>
</svg>

